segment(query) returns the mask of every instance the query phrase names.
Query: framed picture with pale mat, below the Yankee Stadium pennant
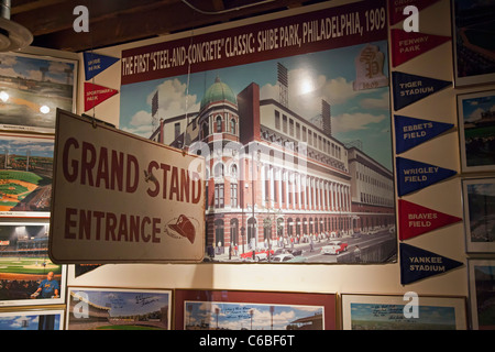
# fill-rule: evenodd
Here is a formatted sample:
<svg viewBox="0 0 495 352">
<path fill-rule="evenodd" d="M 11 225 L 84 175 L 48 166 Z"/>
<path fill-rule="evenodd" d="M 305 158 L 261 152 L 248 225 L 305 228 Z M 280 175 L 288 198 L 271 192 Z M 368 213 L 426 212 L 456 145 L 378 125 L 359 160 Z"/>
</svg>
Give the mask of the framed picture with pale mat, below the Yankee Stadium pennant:
<svg viewBox="0 0 495 352">
<path fill-rule="evenodd" d="M 464 297 L 343 294 L 343 330 L 465 330 Z"/>
</svg>

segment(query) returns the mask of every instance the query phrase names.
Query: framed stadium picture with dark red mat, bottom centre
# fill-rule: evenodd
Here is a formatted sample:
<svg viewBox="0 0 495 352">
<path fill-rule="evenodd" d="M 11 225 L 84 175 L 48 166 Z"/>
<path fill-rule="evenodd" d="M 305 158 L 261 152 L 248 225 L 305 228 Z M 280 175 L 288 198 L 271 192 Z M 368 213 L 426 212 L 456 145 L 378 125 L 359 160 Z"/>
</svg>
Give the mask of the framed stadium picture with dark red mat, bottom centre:
<svg viewBox="0 0 495 352">
<path fill-rule="evenodd" d="M 176 330 L 336 330 L 336 295 L 175 290 Z"/>
</svg>

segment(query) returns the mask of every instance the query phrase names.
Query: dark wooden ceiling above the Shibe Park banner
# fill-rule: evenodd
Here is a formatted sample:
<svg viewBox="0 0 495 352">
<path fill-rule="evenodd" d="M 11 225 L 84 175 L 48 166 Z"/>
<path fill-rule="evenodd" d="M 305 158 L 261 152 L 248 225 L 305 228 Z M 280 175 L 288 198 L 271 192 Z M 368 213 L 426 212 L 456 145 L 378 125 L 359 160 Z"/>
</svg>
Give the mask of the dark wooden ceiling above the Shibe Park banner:
<svg viewBox="0 0 495 352">
<path fill-rule="evenodd" d="M 323 0 L 12 0 L 11 20 L 34 36 L 33 46 L 82 52 L 172 34 Z M 89 32 L 75 32 L 77 6 Z"/>
</svg>

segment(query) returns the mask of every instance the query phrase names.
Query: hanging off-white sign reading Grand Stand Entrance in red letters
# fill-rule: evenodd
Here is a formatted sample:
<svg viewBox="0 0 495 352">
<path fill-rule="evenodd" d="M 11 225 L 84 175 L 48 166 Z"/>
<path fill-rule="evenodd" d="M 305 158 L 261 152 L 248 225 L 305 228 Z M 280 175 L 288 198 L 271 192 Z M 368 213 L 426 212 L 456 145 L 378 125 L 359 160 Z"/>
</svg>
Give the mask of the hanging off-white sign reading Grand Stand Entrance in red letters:
<svg viewBox="0 0 495 352">
<path fill-rule="evenodd" d="M 58 110 L 55 263 L 200 262 L 205 160 Z"/>
</svg>

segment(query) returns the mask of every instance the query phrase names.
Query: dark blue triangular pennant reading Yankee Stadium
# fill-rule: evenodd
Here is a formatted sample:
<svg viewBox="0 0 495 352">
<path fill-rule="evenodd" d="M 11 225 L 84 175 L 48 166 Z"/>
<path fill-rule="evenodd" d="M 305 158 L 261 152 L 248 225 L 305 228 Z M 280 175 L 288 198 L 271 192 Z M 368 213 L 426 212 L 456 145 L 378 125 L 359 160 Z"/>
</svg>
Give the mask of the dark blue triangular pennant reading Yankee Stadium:
<svg viewBox="0 0 495 352">
<path fill-rule="evenodd" d="M 447 273 L 463 263 L 406 243 L 399 243 L 400 284 Z"/>
</svg>

